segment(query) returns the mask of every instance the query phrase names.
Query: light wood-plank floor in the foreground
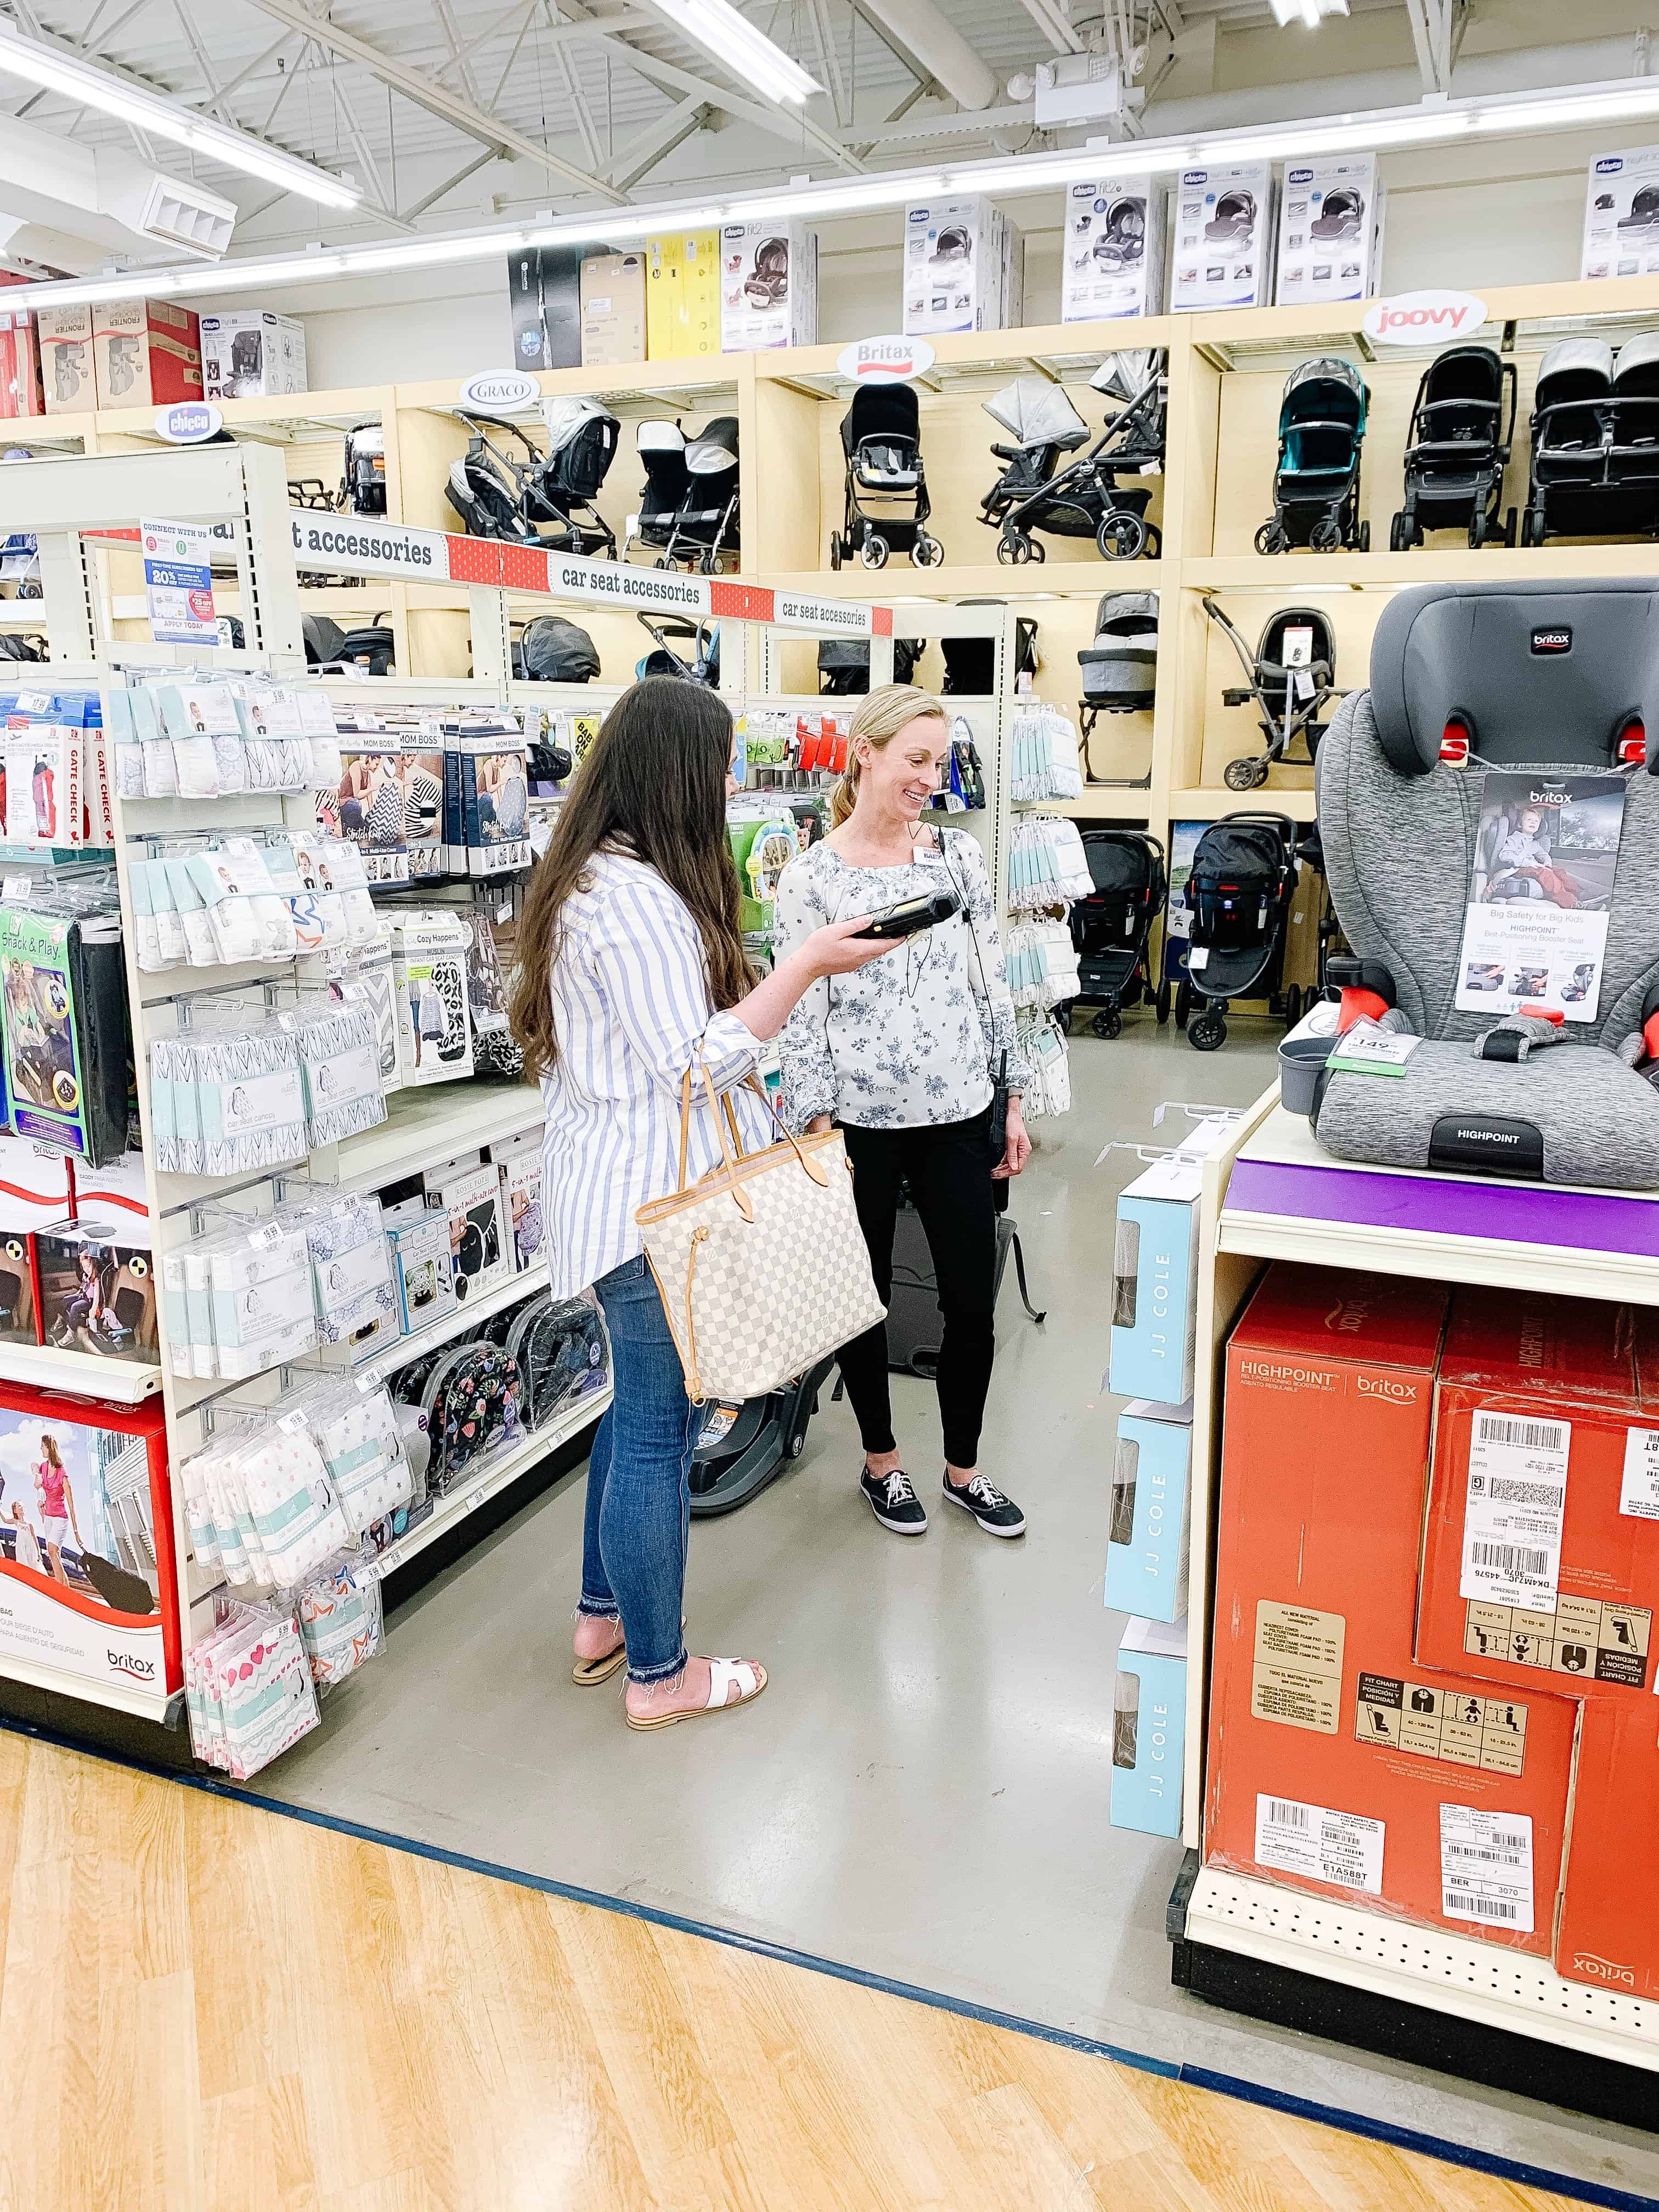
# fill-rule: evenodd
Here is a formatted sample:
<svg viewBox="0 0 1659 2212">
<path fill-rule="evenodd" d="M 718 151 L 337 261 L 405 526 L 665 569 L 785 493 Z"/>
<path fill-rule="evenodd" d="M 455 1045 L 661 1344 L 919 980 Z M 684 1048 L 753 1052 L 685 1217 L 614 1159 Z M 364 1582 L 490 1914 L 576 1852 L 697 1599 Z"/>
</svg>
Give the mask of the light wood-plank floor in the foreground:
<svg viewBox="0 0 1659 2212">
<path fill-rule="evenodd" d="M 0 2203 L 1566 2212 L 0 1734 Z"/>
</svg>

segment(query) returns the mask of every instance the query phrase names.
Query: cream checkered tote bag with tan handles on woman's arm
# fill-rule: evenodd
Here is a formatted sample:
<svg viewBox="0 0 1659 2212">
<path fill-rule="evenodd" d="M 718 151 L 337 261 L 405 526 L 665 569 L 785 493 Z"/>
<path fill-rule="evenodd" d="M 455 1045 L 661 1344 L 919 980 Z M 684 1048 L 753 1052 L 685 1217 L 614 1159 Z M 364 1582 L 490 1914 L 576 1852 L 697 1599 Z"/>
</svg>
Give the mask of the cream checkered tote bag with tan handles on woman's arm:
<svg viewBox="0 0 1659 2212">
<path fill-rule="evenodd" d="M 852 1203 L 841 1130 L 743 1152 L 730 1099 L 708 1110 L 721 1164 L 686 1188 L 692 1071 L 679 1093 L 679 1190 L 635 1214 L 657 1279 L 686 1394 L 761 1398 L 827 1352 L 863 1336 L 885 1314 L 869 1248 Z M 776 1119 L 765 1086 L 750 1077 Z"/>
</svg>

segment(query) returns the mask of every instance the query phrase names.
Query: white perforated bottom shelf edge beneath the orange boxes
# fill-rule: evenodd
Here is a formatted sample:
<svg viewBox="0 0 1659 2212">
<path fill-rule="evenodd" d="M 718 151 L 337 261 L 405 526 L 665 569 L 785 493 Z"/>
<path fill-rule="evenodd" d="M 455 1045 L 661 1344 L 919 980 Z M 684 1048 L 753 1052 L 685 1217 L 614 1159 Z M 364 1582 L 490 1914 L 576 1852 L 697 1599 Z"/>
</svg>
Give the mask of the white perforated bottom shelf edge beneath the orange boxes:
<svg viewBox="0 0 1659 2212">
<path fill-rule="evenodd" d="M 1659 2004 L 1564 1982 L 1548 1960 L 1502 1944 L 1407 1927 L 1214 1867 L 1192 1887 L 1186 1936 L 1378 1997 L 1659 2070 Z"/>
</svg>

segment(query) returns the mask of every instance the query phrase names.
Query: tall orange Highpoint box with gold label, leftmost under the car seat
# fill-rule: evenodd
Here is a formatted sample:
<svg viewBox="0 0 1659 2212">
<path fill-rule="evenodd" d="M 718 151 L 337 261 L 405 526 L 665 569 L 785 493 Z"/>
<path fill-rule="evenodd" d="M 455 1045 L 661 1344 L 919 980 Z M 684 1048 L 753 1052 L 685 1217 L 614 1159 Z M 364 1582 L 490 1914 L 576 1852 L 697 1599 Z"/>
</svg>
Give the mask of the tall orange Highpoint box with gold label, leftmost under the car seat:
<svg viewBox="0 0 1659 2212">
<path fill-rule="evenodd" d="M 1203 1851 L 1548 1958 L 1577 1708 L 1411 1661 L 1444 1312 L 1274 1265 L 1232 1332 Z"/>
</svg>

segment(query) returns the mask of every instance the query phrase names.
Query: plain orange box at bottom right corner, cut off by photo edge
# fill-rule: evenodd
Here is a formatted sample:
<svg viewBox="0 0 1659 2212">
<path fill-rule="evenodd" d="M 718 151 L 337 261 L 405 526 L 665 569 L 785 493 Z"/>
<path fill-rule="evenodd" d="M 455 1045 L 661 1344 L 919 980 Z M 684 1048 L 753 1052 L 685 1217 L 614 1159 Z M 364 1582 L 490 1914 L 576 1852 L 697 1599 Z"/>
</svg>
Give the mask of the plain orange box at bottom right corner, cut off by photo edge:
<svg viewBox="0 0 1659 2212">
<path fill-rule="evenodd" d="M 1579 1723 L 1555 1971 L 1659 1997 L 1659 1708 L 1601 1697 Z"/>
</svg>

